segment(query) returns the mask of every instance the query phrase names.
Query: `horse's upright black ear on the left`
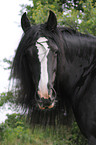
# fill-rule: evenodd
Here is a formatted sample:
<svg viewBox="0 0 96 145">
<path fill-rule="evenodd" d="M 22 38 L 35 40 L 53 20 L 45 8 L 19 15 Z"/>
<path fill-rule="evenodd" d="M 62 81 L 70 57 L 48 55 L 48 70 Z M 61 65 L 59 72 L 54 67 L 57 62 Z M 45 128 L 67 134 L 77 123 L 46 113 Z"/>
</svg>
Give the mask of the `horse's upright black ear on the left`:
<svg viewBox="0 0 96 145">
<path fill-rule="evenodd" d="M 21 27 L 24 32 L 26 32 L 31 27 L 29 19 L 27 18 L 26 12 L 21 17 Z"/>
</svg>

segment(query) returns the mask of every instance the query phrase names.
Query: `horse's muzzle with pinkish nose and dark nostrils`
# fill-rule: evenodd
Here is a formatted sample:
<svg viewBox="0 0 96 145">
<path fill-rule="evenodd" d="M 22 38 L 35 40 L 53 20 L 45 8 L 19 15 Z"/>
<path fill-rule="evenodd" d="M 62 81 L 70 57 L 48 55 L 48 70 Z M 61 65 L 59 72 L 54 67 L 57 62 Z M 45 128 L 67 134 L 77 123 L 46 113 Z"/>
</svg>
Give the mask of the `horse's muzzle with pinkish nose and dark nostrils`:
<svg viewBox="0 0 96 145">
<path fill-rule="evenodd" d="M 54 89 L 51 89 L 50 95 L 48 92 L 42 94 L 41 91 L 38 91 L 38 96 L 39 99 L 37 99 L 37 104 L 39 109 L 46 110 L 54 108 L 56 103 L 56 91 Z"/>
</svg>

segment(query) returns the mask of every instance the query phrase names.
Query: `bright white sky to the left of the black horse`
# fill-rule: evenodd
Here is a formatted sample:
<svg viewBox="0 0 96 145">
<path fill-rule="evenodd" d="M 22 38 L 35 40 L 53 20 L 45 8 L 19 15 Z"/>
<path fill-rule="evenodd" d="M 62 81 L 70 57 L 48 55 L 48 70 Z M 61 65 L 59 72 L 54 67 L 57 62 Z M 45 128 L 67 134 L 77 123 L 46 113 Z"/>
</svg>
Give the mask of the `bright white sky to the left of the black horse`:
<svg viewBox="0 0 96 145">
<path fill-rule="evenodd" d="M 8 64 L 3 59 L 12 60 L 15 50 L 22 37 L 23 31 L 20 27 L 21 16 L 20 4 L 31 4 L 29 0 L 2 0 L 0 2 L 0 93 L 8 91 L 10 71 L 4 70 Z M 8 105 L 0 108 L 0 123 L 7 117 L 6 114 L 13 113 Z"/>
</svg>

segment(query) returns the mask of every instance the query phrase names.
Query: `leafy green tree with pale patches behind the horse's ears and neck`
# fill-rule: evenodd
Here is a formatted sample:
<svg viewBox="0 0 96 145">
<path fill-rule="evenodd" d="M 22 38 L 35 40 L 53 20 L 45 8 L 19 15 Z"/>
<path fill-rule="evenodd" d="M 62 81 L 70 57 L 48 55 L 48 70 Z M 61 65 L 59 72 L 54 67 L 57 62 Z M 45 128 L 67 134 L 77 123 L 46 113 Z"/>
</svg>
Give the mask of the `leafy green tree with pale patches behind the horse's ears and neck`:
<svg viewBox="0 0 96 145">
<path fill-rule="evenodd" d="M 33 7 L 22 5 L 21 13 L 26 10 L 31 23 L 38 24 L 46 21 L 50 9 L 57 15 L 59 25 L 96 35 L 95 0 L 70 0 L 66 3 L 65 0 L 33 0 Z"/>
</svg>

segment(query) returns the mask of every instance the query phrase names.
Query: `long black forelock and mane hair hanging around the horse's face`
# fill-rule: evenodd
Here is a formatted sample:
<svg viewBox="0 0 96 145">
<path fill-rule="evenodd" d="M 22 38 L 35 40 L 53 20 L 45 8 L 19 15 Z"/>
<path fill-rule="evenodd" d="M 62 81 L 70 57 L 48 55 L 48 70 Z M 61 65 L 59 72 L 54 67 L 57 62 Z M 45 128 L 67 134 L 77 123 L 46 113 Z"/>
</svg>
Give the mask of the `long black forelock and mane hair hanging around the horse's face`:
<svg viewBox="0 0 96 145">
<path fill-rule="evenodd" d="M 32 71 L 29 69 L 28 58 L 26 55 L 29 51 L 28 48 L 34 45 L 40 36 L 47 37 L 49 43 L 52 43 L 54 40 L 57 43 L 58 48 L 60 48 L 63 44 L 60 44 L 59 39 L 61 37 L 61 32 L 58 29 L 54 33 L 51 33 L 48 29 L 46 29 L 46 23 L 32 26 L 31 29 L 26 32 L 26 35 L 23 35 L 17 48 L 16 55 L 13 60 L 11 76 L 16 79 L 16 102 L 28 111 L 28 118 L 30 119 L 30 122 L 34 124 L 55 125 L 56 119 L 60 123 L 63 123 L 63 120 L 59 118 L 61 118 L 61 115 L 65 112 L 65 105 L 59 99 L 58 102 L 60 103 L 58 103 L 58 105 L 51 111 L 41 111 L 38 109 L 34 98 L 36 91 L 35 82 L 34 78 L 32 78 Z M 62 37 L 61 41 L 63 42 Z M 33 63 L 34 59 L 35 57 L 32 59 Z"/>
</svg>

